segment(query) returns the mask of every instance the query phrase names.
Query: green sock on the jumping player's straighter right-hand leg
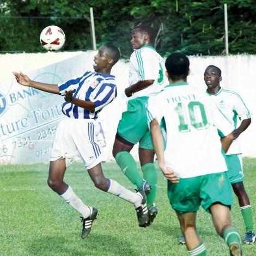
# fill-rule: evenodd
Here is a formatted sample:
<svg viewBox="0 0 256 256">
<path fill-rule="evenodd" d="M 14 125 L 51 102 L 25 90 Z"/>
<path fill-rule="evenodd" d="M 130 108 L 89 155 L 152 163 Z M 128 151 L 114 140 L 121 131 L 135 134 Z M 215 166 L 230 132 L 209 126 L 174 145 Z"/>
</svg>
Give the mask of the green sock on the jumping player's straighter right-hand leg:
<svg viewBox="0 0 256 256">
<path fill-rule="evenodd" d="M 156 200 L 157 170 L 154 163 L 146 163 L 142 166 L 143 178 L 152 186 L 147 196 L 148 207 L 152 206 Z"/>
</svg>

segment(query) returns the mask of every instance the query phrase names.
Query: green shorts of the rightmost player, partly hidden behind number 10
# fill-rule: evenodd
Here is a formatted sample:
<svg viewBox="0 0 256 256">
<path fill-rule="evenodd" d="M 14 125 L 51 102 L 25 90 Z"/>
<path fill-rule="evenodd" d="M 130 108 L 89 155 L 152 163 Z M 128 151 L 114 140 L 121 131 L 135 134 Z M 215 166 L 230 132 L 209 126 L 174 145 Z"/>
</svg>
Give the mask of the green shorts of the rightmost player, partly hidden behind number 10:
<svg viewBox="0 0 256 256">
<path fill-rule="evenodd" d="M 243 167 L 241 154 L 226 155 L 225 160 L 228 166 L 228 178 L 231 184 L 243 182 Z"/>
</svg>

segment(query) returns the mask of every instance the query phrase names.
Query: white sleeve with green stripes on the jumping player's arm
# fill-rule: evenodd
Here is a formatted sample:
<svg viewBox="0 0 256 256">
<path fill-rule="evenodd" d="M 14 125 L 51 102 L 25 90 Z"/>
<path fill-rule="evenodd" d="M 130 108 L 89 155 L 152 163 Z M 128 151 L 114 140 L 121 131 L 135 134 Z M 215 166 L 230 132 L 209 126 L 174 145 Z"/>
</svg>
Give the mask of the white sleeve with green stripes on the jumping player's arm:
<svg viewBox="0 0 256 256">
<path fill-rule="evenodd" d="M 143 48 L 135 52 L 138 65 L 139 81 L 155 80 L 159 72 L 159 61 L 154 57 L 152 50 Z"/>
</svg>

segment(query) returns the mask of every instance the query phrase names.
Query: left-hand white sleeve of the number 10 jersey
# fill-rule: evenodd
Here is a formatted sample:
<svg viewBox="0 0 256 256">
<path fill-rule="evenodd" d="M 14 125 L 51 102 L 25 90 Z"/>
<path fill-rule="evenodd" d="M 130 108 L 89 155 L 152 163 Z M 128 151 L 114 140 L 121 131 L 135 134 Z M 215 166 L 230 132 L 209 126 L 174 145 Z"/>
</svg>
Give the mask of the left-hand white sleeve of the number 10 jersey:
<svg viewBox="0 0 256 256">
<path fill-rule="evenodd" d="M 148 125 L 150 126 L 151 121 L 154 119 L 160 124 L 163 118 L 163 108 L 160 104 L 160 99 L 158 95 L 150 96 L 148 102 L 146 103 L 147 108 L 147 118 Z"/>
</svg>

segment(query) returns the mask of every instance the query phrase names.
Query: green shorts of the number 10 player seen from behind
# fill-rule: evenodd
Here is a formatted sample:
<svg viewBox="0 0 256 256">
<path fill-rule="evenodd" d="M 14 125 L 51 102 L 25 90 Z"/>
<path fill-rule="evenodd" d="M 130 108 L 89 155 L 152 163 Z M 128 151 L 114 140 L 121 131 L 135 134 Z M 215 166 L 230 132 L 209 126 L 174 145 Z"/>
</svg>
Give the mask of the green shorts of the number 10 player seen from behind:
<svg viewBox="0 0 256 256">
<path fill-rule="evenodd" d="M 227 172 L 180 179 L 179 183 L 168 181 L 168 198 L 172 208 L 179 214 L 196 212 L 200 205 L 209 212 L 214 203 L 227 206 L 233 203 Z"/>
</svg>

